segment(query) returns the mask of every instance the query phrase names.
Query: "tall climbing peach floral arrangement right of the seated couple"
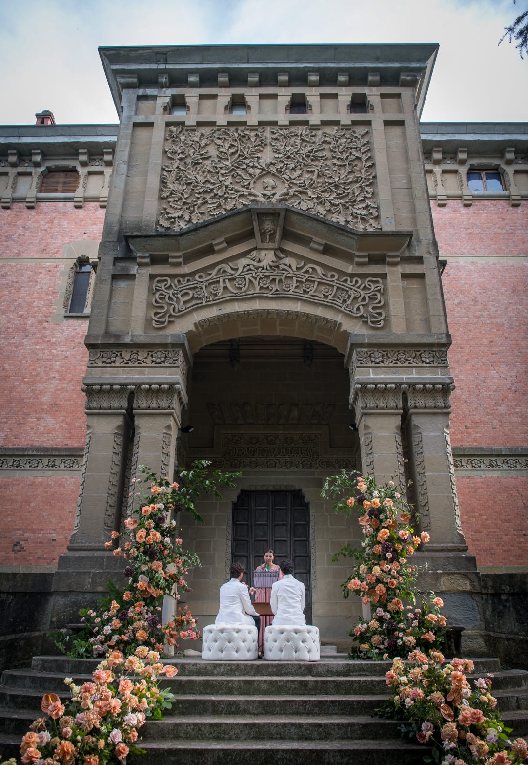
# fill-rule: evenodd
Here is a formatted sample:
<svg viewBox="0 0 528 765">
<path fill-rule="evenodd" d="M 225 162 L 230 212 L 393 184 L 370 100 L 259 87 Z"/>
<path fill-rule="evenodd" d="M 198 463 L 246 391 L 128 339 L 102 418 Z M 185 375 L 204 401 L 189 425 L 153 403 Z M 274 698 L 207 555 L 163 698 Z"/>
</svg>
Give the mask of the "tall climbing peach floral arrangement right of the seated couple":
<svg viewBox="0 0 528 765">
<path fill-rule="evenodd" d="M 445 627 L 445 617 L 440 614 L 442 599 L 434 593 L 418 597 L 418 571 L 410 562 L 418 546 L 429 542 L 429 534 L 414 533 L 412 507 L 394 481 L 378 487 L 374 478 L 342 470 L 326 480 L 322 496 L 335 499 L 336 512 L 360 513 L 361 545 L 357 548 L 348 542 L 332 558 L 356 562 L 342 583 L 343 596 L 358 594 L 363 604 L 375 607 L 371 619 L 361 620 L 349 631 L 358 643 L 351 655 L 387 659 L 439 643 Z M 406 601 L 411 605 L 406 607 Z"/>
</svg>

